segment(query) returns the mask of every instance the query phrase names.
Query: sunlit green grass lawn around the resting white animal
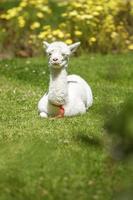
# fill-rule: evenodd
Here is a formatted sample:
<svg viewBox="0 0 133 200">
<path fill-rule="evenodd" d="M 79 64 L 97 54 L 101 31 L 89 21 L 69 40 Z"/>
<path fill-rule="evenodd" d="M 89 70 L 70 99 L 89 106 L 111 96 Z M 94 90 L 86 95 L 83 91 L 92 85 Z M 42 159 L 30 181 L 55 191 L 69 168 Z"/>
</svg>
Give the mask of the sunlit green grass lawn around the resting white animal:
<svg viewBox="0 0 133 200">
<path fill-rule="evenodd" d="M 46 58 L 0 62 L 0 200 L 114 200 L 127 166 L 109 156 L 104 121 L 132 93 L 133 57 L 82 55 L 69 73 L 94 94 L 83 116 L 41 119 L 37 103 L 48 88 Z"/>
</svg>

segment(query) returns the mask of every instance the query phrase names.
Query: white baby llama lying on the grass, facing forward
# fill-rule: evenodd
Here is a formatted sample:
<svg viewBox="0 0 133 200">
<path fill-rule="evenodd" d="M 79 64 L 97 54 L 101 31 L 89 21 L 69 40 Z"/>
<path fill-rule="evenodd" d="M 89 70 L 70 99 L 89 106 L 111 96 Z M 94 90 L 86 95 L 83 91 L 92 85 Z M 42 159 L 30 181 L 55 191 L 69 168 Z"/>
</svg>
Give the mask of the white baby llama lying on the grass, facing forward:
<svg viewBox="0 0 133 200">
<path fill-rule="evenodd" d="M 49 59 L 50 83 L 48 92 L 40 99 L 41 117 L 63 117 L 83 114 L 92 105 L 90 86 L 77 75 L 67 75 L 69 56 L 80 42 L 66 45 L 64 42 L 43 42 Z"/>
</svg>

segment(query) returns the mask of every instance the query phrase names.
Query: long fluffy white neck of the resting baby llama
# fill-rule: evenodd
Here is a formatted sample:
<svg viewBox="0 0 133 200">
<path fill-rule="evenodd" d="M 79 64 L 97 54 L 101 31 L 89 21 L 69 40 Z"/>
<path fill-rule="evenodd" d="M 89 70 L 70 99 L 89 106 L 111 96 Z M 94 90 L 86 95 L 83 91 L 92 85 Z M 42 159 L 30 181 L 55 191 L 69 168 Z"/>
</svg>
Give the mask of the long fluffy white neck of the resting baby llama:
<svg viewBox="0 0 133 200">
<path fill-rule="evenodd" d="M 67 95 L 66 67 L 61 69 L 50 69 L 48 100 L 55 105 L 64 105 L 67 101 Z"/>
</svg>

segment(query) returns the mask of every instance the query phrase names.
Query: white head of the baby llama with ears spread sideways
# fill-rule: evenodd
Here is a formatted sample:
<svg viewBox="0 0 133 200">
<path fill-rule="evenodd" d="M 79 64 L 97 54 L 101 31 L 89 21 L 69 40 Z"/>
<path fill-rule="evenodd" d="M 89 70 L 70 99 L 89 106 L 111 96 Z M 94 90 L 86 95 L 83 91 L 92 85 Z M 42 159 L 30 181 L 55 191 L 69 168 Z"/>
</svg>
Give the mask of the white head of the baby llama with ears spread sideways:
<svg viewBox="0 0 133 200">
<path fill-rule="evenodd" d="M 62 68 L 67 66 L 69 56 L 76 51 L 80 42 L 66 45 L 64 42 L 43 42 L 44 48 L 49 59 L 49 65 L 53 68 Z"/>
</svg>

